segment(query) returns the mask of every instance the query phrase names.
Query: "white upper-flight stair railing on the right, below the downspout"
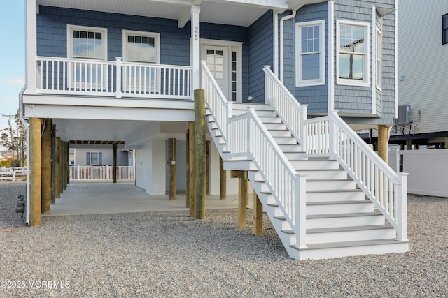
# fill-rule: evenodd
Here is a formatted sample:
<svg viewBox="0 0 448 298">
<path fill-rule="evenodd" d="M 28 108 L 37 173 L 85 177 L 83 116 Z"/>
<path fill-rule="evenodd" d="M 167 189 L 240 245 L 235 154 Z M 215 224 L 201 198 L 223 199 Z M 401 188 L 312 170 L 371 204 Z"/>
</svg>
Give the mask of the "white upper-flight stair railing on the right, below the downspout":
<svg viewBox="0 0 448 298">
<path fill-rule="evenodd" d="M 265 101 L 274 107 L 283 124 L 288 127 L 299 144 L 304 146 L 304 121 L 308 117 L 308 105 L 300 105 L 290 91 L 272 73 L 270 66 L 263 68 L 265 72 Z"/>
</svg>

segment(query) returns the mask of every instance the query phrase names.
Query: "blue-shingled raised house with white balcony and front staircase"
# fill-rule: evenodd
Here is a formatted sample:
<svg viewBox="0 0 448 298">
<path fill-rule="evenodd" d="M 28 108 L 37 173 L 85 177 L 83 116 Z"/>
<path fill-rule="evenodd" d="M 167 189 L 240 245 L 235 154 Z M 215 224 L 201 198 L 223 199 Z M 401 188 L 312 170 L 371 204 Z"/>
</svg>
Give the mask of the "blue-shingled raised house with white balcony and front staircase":
<svg viewBox="0 0 448 298">
<path fill-rule="evenodd" d="M 137 186 L 165 194 L 172 165 L 186 175 L 203 89 L 210 194 L 221 156 L 247 172 L 293 258 L 407 251 L 405 177 L 351 129 L 384 136 L 395 123 L 394 0 L 26 3 L 31 135 L 45 118 L 64 142 L 123 141 L 137 150 Z"/>
</svg>

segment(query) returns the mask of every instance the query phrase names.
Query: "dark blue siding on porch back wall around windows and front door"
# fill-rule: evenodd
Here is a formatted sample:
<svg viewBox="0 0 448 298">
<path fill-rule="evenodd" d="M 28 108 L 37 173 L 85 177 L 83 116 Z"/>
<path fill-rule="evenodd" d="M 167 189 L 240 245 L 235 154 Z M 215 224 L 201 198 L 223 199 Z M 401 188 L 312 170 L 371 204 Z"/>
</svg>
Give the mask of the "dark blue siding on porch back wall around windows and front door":
<svg viewBox="0 0 448 298">
<path fill-rule="evenodd" d="M 66 57 L 66 25 L 107 28 L 108 60 L 123 57 L 123 30 L 160 33 L 160 63 L 190 65 L 190 22 L 177 27 L 177 20 L 139 17 L 95 11 L 41 6 L 37 15 L 38 56 Z M 242 97 L 248 97 L 248 27 L 201 23 L 201 38 L 243 43 Z M 272 51 L 271 51 L 272 52 Z M 262 70 L 260 70 L 261 72 Z"/>
</svg>

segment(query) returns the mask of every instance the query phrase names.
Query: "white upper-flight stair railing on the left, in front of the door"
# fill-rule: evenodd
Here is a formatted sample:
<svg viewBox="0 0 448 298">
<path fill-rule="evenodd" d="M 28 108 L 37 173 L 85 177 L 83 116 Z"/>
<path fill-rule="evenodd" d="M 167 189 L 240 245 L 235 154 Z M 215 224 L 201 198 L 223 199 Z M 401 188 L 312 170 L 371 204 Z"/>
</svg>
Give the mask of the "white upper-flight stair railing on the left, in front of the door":
<svg viewBox="0 0 448 298">
<path fill-rule="evenodd" d="M 228 143 L 228 119 L 233 116 L 233 105 L 225 98 L 206 61 L 202 61 L 202 89 L 204 89 L 205 104 L 211 112 L 211 117 L 218 126 L 221 137 Z"/>
</svg>

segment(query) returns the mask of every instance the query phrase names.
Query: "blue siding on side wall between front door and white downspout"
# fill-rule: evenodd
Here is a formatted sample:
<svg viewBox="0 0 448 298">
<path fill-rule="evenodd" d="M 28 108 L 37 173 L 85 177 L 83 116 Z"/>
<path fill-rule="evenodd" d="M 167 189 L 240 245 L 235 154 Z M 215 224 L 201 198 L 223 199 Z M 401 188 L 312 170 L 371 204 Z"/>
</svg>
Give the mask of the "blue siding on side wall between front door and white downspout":
<svg viewBox="0 0 448 298">
<path fill-rule="evenodd" d="M 265 102 L 265 73 L 262 68 L 265 65 L 272 66 L 274 61 L 272 21 L 272 11 L 269 10 L 248 28 L 248 96 L 253 97 L 253 103 Z"/>
</svg>

